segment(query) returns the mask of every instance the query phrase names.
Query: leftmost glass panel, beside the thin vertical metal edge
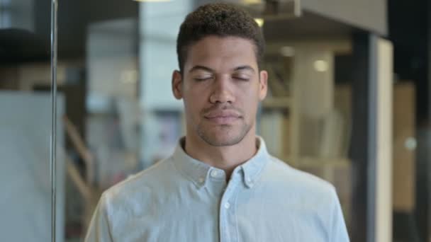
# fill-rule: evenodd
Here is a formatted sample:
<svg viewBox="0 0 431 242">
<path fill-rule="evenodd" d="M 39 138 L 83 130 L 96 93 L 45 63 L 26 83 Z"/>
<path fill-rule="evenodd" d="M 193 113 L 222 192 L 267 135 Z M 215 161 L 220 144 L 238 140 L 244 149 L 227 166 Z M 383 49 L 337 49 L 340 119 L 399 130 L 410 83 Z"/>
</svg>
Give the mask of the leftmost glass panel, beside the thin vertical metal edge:
<svg viewBox="0 0 431 242">
<path fill-rule="evenodd" d="M 50 1 L 0 1 L 0 241 L 51 241 Z M 57 113 L 65 112 L 59 93 Z M 59 122 L 57 146 L 64 146 Z M 57 152 L 57 241 L 64 241 L 64 157 Z"/>
</svg>

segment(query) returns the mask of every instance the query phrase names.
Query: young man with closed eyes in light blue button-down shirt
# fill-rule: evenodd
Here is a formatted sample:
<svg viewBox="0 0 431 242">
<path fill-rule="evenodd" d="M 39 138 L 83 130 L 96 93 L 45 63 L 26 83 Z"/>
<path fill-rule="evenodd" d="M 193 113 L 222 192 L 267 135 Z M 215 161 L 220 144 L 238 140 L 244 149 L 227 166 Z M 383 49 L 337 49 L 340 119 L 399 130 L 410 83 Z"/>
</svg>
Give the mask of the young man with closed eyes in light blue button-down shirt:
<svg viewBox="0 0 431 242">
<path fill-rule="evenodd" d="M 186 17 L 172 75 L 186 137 L 103 193 L 86 241 L 349 241 L 332 185 L 270 156 L 255 134 L 263 52 L 240 8 L 208 4 Z"/>
</svg>

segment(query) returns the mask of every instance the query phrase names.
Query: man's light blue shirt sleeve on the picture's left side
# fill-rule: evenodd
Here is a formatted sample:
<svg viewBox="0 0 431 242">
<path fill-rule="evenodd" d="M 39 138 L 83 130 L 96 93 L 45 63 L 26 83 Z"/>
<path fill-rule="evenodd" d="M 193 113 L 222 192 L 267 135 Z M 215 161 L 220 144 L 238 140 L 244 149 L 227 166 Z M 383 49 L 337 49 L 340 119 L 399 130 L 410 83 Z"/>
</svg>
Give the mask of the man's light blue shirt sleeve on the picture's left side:
<svg viewBox="0 0 431 242">
<path fill-rule="evenodd" d="M 107 214 L 107 201 L 106 196 L 103 194 L 91 218 L 89 229 L 84 239 L 85 242 L 113 242 Z"/>
</svg>

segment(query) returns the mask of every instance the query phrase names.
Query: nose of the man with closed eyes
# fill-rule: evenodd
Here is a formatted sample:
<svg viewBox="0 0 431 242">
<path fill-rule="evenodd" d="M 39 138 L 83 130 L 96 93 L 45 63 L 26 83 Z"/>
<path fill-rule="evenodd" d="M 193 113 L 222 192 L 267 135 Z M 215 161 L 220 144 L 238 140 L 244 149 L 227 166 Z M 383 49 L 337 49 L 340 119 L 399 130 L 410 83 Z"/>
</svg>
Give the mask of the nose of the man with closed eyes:
<svg viewBox="0 0 431 242">
<path fill-rule="evenodd" d="M 213 92 L 210 96 L 211 103 L 233 103 L 233 84 L 228 76 L 220 76 L 213 82 Z"/>
</svg>

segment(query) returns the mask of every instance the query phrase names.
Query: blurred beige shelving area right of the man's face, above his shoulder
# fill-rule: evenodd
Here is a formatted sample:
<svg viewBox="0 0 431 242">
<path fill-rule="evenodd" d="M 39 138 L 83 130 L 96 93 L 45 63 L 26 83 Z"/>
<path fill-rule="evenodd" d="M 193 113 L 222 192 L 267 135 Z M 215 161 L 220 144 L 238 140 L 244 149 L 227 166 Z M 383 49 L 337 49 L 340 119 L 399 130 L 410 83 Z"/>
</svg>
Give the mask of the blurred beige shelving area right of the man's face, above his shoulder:
<svg viewBox="0 0 431 242">
<path fill-rule="evenodd" d="M 352 40 L 279 38 L 267 45 L 271 92 L 262 105 L 260 134 L 274 156 L 335 185 L 352 234 L 358 219 L 352 214 L 354 161 L 349 155 Z"/>
</svg>

